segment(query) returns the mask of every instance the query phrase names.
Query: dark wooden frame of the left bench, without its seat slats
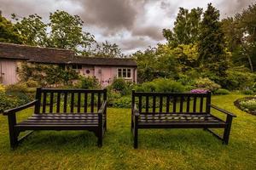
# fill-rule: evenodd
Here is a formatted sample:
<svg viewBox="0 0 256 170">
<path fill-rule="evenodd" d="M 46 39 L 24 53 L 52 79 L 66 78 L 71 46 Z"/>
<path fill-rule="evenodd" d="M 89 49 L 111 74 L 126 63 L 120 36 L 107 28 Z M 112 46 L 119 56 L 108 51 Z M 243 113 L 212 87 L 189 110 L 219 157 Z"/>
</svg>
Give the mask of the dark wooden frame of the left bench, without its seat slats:
<svg viewBox="0 0 256 170">
<path fill-rule="evenodd" d="M 42 94 L 50 94 L 50 109 L 53 109 L 53 94 L 54 93 L 59 93 L 58 94 L 58 108 L 60 109 L 60 96 L 61 93 L 64 93 L 65 95 L 67 95 L 68 93 L 71 93 L 72 95 L 75 93 L 78 93 L 79 95 L 79 101 L 80 101 L 80 94 L 84 93 L 92 93 L 92 94 L 100 94 L 100 96 L 103 94 L 102 96 L 102 105 L 100 105 L 98 103 L 97 108 L 98 111 L 94 114 L 98 115 L 98 125 L 97 126 L 90 126 L 90 124 L 86 125 L 39 125 L 39 126 L 19 126 L 19 124 L 17 124 L 16 121 L 16 113 L 18 113 L 19 111 L 25 110 L 29 107 L 34 106 L 34 114 L 39 114 L 40 113 L 40 105 L 42 105 Z M 99 98 L 98 98 L 99 99 Z M 46 105 L 46 97 L 44 96 L 43 99 L 43 106 L 45 108 Z M 72 97 L 72 102 L 74 103 L 74 97 Z M 91 99 L 90 105 L 94 105 L 94 101 L 93 99 Z M 64 104 L 65 105 L 65 104 Z M 71 105 L 71 107 L 73 108 L 74 105 Z M 67 97 L 66 97 L 66 107 L 67 107 Z M 78 107 L 80 107 L 80 104 L 78 105 Z M 91 108 L 93 109 L 94 106 L 91 106 Z M 80 109 L 79 109 L 80 110 Z M 82 111 L 81 111 L 82 112 Z M 74 111 L 72 111 L 72 113 L 74 113 Z M 75 112 L 76 113 L 76 112 Z M 80 111 L 79 111 L 80 113 Z M 55 113 L 57 114 L 57 113 Z M 105 133 L 105 131 L 107 130 L 107 89 L 103 89 L 103 90 L 88 90 L 88 89 L 56 89 L 56 88 L 37 88 L 37 93 L 36 93 L 36 99 L 33 100 L 32 102 L 26 104 L 26 105 L 21 105 L 19 107 L 16 107 L 14 109 L 9 109 L 7 111 L 3 112 L 4 116 L 8 116 L 8 122 L 9 122 L 9 141 L 10 141 L 10 146 L 12 149 L 15 149 L 15 147 L 23 140 L 25 139 L 29 134 L 31 134 L 34 130 L 89 130 L 93 133 L 96 134 L 96 137 L 98 138 L 97 144 L 99 147 L 102 147 L 102 138 L 103 138 L 103 134 Z M 105 116 L 105 119 L 103 118 L 103 116 Z M 20 132 L 24 132 L 24 131 L 31 131 L 29 133 L 26 133 L 23 137 L 19 138 L 19 134 Z"/>
</svg>

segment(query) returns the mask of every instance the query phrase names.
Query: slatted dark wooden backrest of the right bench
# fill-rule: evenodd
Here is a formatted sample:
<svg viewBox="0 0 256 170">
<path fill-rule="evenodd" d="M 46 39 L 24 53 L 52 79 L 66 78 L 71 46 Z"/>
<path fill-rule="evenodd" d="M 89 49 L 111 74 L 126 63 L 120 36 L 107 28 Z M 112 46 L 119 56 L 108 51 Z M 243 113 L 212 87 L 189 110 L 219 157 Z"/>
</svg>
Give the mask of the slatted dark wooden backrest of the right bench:
<svg viewBox="0 0 256 170">
<path fill-rule="evenodd" d="M 211 93 L 171 94 L 132 91 L 132 108 L 134 105 L 137 105 L 140 114 L 207 114 L 210 113 Z"/>
</svg>

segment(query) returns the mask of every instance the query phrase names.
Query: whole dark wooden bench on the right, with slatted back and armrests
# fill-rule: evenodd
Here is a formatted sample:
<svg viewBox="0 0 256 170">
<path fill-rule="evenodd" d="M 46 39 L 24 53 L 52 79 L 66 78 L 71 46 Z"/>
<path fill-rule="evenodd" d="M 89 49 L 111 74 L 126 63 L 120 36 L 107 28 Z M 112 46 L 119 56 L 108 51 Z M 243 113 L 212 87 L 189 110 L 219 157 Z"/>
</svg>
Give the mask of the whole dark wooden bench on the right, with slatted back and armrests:
<svg viewBox="0 0 256 170">
<path fill-rule="evenodd" d="M 134 148 L 139 128 L 203 128 L 228 144 L 232 118 L 236 117 L 211 104 L 211 93 L 164 94 L 132 91 L 131 132 Z M 137 107 L 138 105 L 138 107 Z M 138 108 L 138 109 L 137 109 Z M 226 114 L 226 120 L 213 116 L 211 108 Z M 209 128 L 224 128 L 223 137 Z"/>
</svg>

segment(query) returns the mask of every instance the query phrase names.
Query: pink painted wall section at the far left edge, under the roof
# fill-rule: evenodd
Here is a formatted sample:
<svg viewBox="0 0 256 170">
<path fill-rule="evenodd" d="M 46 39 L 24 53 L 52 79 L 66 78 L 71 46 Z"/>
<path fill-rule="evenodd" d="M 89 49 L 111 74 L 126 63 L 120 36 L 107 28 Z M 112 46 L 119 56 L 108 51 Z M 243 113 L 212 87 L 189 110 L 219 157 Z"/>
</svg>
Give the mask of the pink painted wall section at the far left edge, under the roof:
<svg viewBox="0 0 256 170">
<path fill-rule="evenodd" d="M 0 59 L 0 77 L 4 85 L 18 82 L 17 61 L 15 59 Z"/>
</svg>

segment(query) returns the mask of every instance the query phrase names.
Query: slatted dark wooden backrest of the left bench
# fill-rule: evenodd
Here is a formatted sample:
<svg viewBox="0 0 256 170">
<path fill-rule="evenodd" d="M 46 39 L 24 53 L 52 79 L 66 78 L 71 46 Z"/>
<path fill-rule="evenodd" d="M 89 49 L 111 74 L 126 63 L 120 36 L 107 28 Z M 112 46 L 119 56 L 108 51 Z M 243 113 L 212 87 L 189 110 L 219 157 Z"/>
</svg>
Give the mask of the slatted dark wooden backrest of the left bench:
<svg viewBox="0 0 256 170">
<path fill-rule="evenodd" d="M 107 100 L 107 89 L 37 88 L 35 114 L 94 113 Z"/>
</svg>

